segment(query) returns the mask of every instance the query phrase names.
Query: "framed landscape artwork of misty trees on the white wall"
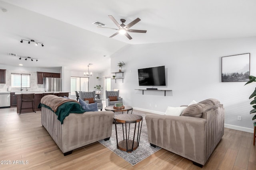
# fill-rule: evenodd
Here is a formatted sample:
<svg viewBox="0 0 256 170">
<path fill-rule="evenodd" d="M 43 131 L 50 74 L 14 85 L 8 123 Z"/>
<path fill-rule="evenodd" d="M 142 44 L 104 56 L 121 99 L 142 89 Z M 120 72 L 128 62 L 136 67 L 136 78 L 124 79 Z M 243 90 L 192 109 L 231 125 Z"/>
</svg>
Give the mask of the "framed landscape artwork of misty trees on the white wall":
<svg viewBox="0 0 256 170">
<path fill-rule="evenodd" d="M 247 82 L 250 75 L 250 53 L 221 58 L 221 82 Z"/>
</svg>

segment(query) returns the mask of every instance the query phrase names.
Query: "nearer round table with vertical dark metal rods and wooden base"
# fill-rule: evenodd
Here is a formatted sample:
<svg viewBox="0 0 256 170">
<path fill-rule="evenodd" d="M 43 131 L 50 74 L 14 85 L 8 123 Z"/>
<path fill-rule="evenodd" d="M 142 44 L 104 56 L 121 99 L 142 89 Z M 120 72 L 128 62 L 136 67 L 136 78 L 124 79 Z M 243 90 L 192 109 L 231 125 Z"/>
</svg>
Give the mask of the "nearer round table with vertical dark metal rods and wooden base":
<svg viewBox="0 0 256 170">
<path fill-rule="evenodd" d="M 142 127 L 142 116 L 140 115 L 132 115 L 132 114 L 122 114 L 116 115 L 114 117 L 115 127 L 117 123 L 122 123 L 123 129 L 123 140 L 118 142 L 117 129 L 116 129 L 116 147 L 120 150 L 131 153 L 133 150 L 137 149 L 140 142 L 140 133 Z M 135 123 L 134 125 L 134 133 L 133 138 L 130 137 L 130 124 Z M 141 123 L 141 125 L 140 125 Z M 129 125 L 129 129 L 127 131 L 127 126 Z M 138 125 L 138 130 L 136 134 L 136 128 Z M 124 128 L 125 126 L 125 128 Z M 131 138 L 131 139 L 130 139 Z M 134 140 L 137 138 L 136 140 Z"/>
</svg>

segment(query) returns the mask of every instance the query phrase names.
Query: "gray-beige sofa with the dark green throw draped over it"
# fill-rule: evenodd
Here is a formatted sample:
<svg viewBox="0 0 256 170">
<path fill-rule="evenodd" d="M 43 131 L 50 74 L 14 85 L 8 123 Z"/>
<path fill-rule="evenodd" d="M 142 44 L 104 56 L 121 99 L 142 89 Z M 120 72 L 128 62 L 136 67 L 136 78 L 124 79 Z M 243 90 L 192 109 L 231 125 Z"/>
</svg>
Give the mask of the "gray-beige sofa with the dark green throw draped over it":
<svg viewBox="0 0 256 170">
<path fill-rule="evenodd" d="M 47 95 L 47 97 L 51 98 L 50 95 Z M 46 98 L 46 96 L 44 96 L 44 98 Z M 52 98 L 54 98 L 53 95 Z M 43 103 L 42 100 L 41 103 L 48 106 L 47 103 Z M 49 99 L 47 101 L 49 101 Z M 76 100 L 74 101 L 76 102 Z M 61 102 L 63 103 L 65 101 Z M 74 104 L 74 102 L 72 104 Z M 60 107 L 61 106 L 59 106 L 59 108 Z M 114 118 L 112 111 L 70 112 L 69 115 L 64 118 L 62 124 L 61 121 L 58 120 L 58 116 L 52 110 L 53 109 L 50 107 L 41 107 L 42 125 L 64 153 L 64 156 L 71 154 L 74 149 L 102 139 L 106 141 L 112 135 L 112 122 Z M 58 109 L 56 113 L 58 113 Z"/>
</svg>

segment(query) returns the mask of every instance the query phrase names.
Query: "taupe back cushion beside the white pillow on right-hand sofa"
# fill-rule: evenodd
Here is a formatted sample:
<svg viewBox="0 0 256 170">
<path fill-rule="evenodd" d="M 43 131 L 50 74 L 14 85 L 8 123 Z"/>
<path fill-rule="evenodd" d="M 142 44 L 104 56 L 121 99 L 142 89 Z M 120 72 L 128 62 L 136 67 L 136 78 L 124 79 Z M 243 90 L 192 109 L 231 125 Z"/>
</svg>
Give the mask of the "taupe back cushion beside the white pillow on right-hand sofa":
<svg viewBox="0 0 256 170">
<path fill-rule="evenodd" d="M 192 104 L 183 112 L 182 116 L 202 117 L 203 107 L 200 104 Z"/>
</svg>

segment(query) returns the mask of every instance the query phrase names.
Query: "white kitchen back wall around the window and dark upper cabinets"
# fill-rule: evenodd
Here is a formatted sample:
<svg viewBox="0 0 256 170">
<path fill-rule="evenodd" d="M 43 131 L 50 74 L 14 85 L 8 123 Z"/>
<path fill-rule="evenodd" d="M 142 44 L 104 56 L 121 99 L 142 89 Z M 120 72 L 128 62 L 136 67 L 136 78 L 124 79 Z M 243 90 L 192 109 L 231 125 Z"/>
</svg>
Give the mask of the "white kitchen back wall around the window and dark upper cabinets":
<svg viewBox="0 0 256 170">
<path fill-rule="evenodd" d="M 6 84 L 0 84 L 0 92 L 6 92 L 8 86 L 11 86 L 11 73 L 19 73 L 19 74 L 30 74 L 30 88 L 28 88 L 28 92 L 32 91 L 44 91 L 43 84 L 37 84 L 37 72 L 55 72 L 60 73 L 61 68 L 37 68 L 37 67 L 23 67 L 23 66 L 8 66 L 1 65 L 0 69 L 6 70 Z M 20 91 L 20 88 L 12 88 L 12 92 Z"/>
</svg>

